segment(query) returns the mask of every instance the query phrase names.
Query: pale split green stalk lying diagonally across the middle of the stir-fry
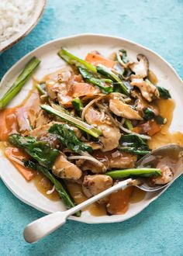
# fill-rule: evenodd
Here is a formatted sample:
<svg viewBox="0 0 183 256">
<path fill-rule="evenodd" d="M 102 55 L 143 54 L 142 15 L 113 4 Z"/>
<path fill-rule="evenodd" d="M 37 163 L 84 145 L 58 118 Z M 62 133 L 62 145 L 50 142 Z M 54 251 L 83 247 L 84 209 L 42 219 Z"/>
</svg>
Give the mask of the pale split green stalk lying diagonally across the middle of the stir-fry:
<svg viewBox="0 0 183 256">
<path fill-rule="evenodd" d="M 96 129 L 94 126 L 90 126 L 88 123 L 85 123 L 80 119 L 75 118 L 74 116 L 70 116 L 67 113 L 62 112 L 61 110 L 59 111 L 48 105 L 42 105 L 41 109 L 44 109 L 47 112 L 50 112 L 51 114 L 58 116 L 61 119 L 64 119 L 64 121 L 73 124 L 74 126 L 78 127 L 78 129 L 83 130 L 86 133 L 89 133 L 91 136 L 95 138 L 98 138 L 102 134 L 101 130 Z"/>
</svg>

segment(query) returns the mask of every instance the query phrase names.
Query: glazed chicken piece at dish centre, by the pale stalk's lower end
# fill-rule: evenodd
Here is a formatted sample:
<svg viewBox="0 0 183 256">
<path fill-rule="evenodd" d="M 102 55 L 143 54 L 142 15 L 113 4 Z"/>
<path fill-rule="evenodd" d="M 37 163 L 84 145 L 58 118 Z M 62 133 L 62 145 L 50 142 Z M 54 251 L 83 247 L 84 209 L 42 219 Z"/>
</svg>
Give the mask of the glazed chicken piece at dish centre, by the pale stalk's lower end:
<svg viewBox="0 0 183 256">
<path fill-rule="evenodd" d="M 95 125 L 98 129 L 102 130 L 102 136 L 99 137 L 103 144 L 102 151 L 109 151 L 119 145 L 121 133 L 119 128 L 110 123 L 109 116 L 102 117 L 102 113 L 90 107 L 85 112 L 85 119 L 87 123 Z"/>
</svg>

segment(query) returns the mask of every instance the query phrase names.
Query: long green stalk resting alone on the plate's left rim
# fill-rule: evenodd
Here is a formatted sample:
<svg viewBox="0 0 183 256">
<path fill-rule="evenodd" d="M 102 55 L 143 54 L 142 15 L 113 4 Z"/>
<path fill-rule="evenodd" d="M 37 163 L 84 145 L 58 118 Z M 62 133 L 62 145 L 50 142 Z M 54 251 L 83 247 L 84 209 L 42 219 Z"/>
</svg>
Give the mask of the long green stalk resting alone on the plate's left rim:
<svg viewBox="0 0 183 256">
<path fill-rule="evenodd" d="M 39 64 L 40 60 L 36 57 L 32 57 L 22 70 L 21 74 L 19 74 L 18 78 L 16 78 L 16 81 L 13 83 L 11 88 L 9 88 L 8 92 L 6 92 L 5 95 L 2 96 L 2 99 L 0 99 L 0 109 L 3 109 L 18 94 L 22 86 L 25 85 L 26 81 Z"/>
</svg>

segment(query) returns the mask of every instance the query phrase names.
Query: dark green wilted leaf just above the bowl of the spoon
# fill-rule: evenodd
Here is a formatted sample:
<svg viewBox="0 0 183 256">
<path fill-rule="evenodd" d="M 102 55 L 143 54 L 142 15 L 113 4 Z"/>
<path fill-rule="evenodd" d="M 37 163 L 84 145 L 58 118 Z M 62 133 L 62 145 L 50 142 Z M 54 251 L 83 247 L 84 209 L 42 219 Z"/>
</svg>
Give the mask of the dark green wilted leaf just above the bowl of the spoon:
<svg viewBox="0 0 183 256">
<path fill-rule="evenodd" d="M 135 134 L 123 135 L 119 144 L 119 150 L 123 150 L 133 154 L 150 153 L 150 148 L 148 147 L 147 143 Z"/>
</svg>

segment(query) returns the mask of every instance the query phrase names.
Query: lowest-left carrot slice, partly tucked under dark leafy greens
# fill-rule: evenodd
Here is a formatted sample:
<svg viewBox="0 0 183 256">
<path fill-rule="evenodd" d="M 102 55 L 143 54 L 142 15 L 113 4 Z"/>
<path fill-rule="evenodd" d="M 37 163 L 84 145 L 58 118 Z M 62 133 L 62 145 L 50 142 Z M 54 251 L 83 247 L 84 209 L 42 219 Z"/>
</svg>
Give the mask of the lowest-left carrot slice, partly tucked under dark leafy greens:
<svg viewBox="0 0 183 256">
<path fill-rule="evenodd" d="M 29 156 L 21 149 L 16 147 L 7 147 L 5 150 L 5 156 L 12 162 L 16 169 L 21 173 L 21 175 L 26 178 L 26 181 L 31 181 L 36 175 L 36 171 L 26 168 L 19 164 L 16 160 L 22 161 L 22 159 L 29 159 Z M 16 158 L 16 159 L 15 159 Z M 14 160 L 15 159 L 15 160 Z"/>
</svg>

